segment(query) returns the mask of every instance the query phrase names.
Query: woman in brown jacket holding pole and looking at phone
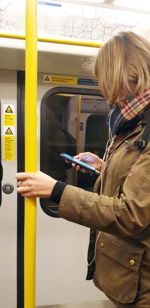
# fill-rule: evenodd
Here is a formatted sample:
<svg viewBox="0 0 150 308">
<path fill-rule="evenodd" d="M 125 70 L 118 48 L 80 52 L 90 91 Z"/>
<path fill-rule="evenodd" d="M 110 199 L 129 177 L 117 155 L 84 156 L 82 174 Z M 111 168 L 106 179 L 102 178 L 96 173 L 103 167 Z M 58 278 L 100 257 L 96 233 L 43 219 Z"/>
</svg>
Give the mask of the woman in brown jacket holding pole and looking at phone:
<svg viewBox="0 0 150 308">
<path fill-rule="evenodd" d="M 95 74 L 115 109 L 108 118 L 113 143 L 94 192 L 41 172 L 16 175 L 24 180 L 17 188 L 22 196 L 51 196 L 60 217 L 91 228 L 87 279 L 119 308 L 150 307 L 150 143 L 141 155 L 138 147 L 125 148 L 126 140 L 141 140 L 149 117 L 149 69 L 150 44 L 134 33 L 116 35 L 99 51 Z M 79 159 L 101 170 L 99 157 Z"/>
</svg>

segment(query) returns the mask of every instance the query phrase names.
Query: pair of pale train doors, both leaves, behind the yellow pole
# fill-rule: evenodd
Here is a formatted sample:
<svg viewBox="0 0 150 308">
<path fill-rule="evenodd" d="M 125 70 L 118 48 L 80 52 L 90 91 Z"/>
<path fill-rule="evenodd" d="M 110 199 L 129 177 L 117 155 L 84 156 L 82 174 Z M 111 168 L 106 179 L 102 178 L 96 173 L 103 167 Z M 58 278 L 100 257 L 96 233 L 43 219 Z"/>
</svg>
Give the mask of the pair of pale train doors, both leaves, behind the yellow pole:
<svg viewBox="0 0 150 308">
<path fill-rule="evenodd" d="M 24 72 L 1 70 L 0 153 L 4 177 L 2 189 L 0 187 L 0 304 L 4 308 L 16 307 L 16 302 L 18 307 L 24 306 L 24 198 L 17 196 L 14 178 L 17 171 L 24 171 L 24 79 Z M 91 136 L 93 131 L 99 131 L 102 137 L 101 127 L 109 112 L 104 101 L 104 109 L 98 107 L 96 100 L 100 98 L 97 95 L 98 90 L 82 86 L 50 89 L 49 84 L 43 85 L 43 74 L 39 74 L 39 170 L 68 184 L 80 185 L 79 174 L 64 162 L 62 165 L 59 155 L 62 151 L 71 151 L 74 155 L 77 148 L 95 151 Z M 92 104 L 92 108 L 85 106 L 85 99 L 86 103 L 90 101 L 88 106 Z M 102 102 L 100 105 L 102 107 Z M 103 140 L 100 137 L 100 145 L 97 144 L 101 149 L 108 138 L 106 125 L 105 130 L 105 137 Z M 81 307 L 81 303 L 88 301 L 92 307 L 93 301 L 106 299 L 92 281 L 85 280 L 87 266 L 83 243 L 86 228 L 58 219 L 58 206 L 50 200 L 41 199 L 40 203 L 41 207 L 37 200 L 36 305 L 74 302 Z M 87 246 L 88 241 L 86 250 Z"/>
</svg>

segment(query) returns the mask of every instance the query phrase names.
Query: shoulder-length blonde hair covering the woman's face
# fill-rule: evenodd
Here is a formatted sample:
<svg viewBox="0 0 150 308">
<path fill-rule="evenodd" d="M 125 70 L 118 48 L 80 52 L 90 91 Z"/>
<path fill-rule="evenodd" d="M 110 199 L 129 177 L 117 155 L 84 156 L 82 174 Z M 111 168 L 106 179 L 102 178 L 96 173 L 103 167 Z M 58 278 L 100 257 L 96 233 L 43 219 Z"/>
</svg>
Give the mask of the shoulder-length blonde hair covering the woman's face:
<svg viewBox="0 0 150 308">
<path fill-rule="evenodd" d="M 104 44 L 94 64 L 100 92 L 108 103 L 122 106 L 128 95 L 150 88 L 150 44 L 133 32 L 120 32 Z"/>
</svg>

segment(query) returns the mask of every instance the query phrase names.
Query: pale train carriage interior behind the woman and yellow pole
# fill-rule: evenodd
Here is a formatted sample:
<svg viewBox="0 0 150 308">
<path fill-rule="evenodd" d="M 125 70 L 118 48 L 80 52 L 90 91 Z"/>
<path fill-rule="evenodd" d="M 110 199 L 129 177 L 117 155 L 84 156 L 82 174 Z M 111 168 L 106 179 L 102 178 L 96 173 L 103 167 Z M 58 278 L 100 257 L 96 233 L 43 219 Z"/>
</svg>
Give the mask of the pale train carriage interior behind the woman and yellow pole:
<svg viewBox="0 0 150 308">
<path fill-rule="evenodd" d="M 149 0 L 47 0 L 37 1 L 37 7 L 38 36 L 44 37 L 37 45 L 37 169 L 92 191 L 98 176 L 77 172 L 60 158 L 62 152 L 74 156 L 84 151 L 103 158 L 109 139 L 110 106 L 92 71 L 83 66 L 89 57 L 95 59 L 99 48 L 84 43 L 103 44 L 124 30 L 150 41 Z M 14 177 L 25 170 L 24 0 L 0 1 L 0 32 L 0 155 L 4 170 L 0 306 L 24 308 L 25 204 L 24 198 L 17 196 Z M 57 38 L 57 44 L 51 38 Z M 62 44 L 63 38 L 67 41 Z M 36 307 L 115 308 L 92 281 L 85 280 L 86 234 L 86 227 L 58 218 L 58 205 L 50 198 L 37 200 Z"/>
</svg>

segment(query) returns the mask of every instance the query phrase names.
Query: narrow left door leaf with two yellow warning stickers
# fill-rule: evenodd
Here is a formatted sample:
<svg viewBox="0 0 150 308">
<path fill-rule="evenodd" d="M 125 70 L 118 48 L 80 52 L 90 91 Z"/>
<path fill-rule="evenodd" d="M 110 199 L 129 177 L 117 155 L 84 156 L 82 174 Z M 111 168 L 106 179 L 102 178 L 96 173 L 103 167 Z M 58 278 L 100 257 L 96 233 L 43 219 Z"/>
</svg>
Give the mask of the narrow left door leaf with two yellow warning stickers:
<svg viewBox="0 0 150 308">
<path fill-rule="evenodd" d="M 0 306 L 16 306 L 17 247 L 17 72 L 1 70 L 1 161 L 3 182 L 0 183 Z M 21 151 L 20 151 L 21 156 Z M 19 159 L 19 158 L 18 158 Z M 0 198 L 1 199 L 1 198 Z"/>
</svg>

